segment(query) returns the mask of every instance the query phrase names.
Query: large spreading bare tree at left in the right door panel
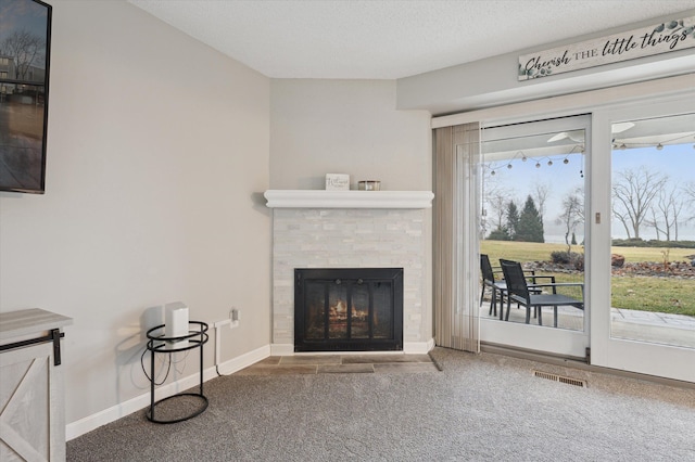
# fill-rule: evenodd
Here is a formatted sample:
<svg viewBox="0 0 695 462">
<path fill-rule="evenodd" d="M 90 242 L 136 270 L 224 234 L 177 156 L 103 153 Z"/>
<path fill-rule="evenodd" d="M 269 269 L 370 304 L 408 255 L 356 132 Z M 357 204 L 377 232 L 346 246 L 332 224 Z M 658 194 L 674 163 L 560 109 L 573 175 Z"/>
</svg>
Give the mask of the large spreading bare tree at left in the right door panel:
<svg viewBox="0 0 695 462">
<path fill-rule="evenodd" d="M 640 239 L 640 228 L 667 179 L 667 176 L 649 171 L 645 166 L 636 171 L 627 169 L 617 174 L 612 184 L 612 213 L 624 227 L 628 239 L 631 239 L 631 231 L 634 239 Z"/>
</svg>

